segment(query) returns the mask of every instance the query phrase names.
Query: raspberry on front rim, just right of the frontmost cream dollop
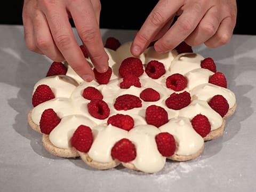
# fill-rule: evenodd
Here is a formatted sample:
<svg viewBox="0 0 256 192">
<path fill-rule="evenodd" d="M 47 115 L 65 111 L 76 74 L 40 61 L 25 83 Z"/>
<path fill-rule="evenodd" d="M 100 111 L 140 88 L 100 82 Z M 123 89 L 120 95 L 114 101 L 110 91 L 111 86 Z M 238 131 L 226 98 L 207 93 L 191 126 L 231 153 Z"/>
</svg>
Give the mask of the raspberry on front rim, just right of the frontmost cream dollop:
<svg viewBox="0 0 256 192">
<path fill-rule="evenodd" d="M 167 132 L 159 133 L 156 135 L 155 140 L 159 153 L 164 157 L 170 157 L 174 154 L 176 143 L 172 134 Z"/>
</svg>

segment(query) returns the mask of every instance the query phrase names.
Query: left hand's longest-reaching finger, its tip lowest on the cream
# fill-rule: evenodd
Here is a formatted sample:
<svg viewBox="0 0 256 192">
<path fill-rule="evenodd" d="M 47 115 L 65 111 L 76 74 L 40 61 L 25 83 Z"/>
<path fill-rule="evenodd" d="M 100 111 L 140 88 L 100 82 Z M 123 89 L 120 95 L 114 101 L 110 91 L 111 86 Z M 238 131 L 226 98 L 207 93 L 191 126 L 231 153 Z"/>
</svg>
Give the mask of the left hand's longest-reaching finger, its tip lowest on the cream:
<svg viewBox="0 0 256 192">
<path fill-rule="evenodd" d="M 69 65 L 85 81 L 92 81 L 94 73 L 85 60 L 70 26 L 65 5 L 59 1 L 45 5 L 45 15 L 55 44 Z"/>
</svg>

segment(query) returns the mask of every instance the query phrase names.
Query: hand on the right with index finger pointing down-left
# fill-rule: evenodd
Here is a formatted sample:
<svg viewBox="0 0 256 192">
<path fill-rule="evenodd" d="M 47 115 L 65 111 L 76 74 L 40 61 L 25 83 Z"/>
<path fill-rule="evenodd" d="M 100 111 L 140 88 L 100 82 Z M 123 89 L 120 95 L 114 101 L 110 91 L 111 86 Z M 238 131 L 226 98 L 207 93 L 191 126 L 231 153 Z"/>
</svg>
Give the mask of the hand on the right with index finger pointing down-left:
<svg viewBox="0 0 256 192">
<path fill-rule="evenodd" d="M 174 21 L 175 15 L 179 15 Z M 236 25 L 235 0 L 159 0 L 136 34 L 131 46 L 140 55 L 150 42 L 157 52 L 173 50 L 185 41 L 218 47 L 230 41 Z"/>
</svg>

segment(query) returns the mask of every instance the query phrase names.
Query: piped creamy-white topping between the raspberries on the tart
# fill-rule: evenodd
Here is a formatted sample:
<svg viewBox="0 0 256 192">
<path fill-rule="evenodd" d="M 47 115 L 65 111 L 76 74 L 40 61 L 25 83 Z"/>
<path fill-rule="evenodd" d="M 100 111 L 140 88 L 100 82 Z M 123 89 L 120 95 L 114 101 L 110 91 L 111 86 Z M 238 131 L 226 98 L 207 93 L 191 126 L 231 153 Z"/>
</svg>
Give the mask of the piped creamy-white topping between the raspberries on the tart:
<svg viewBox="0 0 256 192">
<path fill-rule="evenodd" d="M 118 75 L 118 68 L 123 59 L 132 57 L 130 46 L 131 42 L 127 42 L 116 51 L 105 48 L 110 58 L 109 66 L 113 69 L 113 74 L 107 85 L 99 85 L 96 81 L 84 82 L 69 66 L 66 75 L 40 79 L 35 84 L 34 91 L 38 85 L 47 84 L 53 90 L 55 99 L 36 106 L 31 113 L 31 118 L 36 124 L 39 124 L 43 111 L 47 108 L 53 108 L 61 118 L 61 122 L 50 133 L 50 141 L 54 146 L 64 149 L 71 147 L 70 138 L 79 125 L 84 124 L 91 127 L 94 141 L 88 154 L 94 161 L 101 163 L 111 162 L 113 160 L 111 148 L 118 140 L 127 138 L 134 143 L 137 149 L 137 157 L 131 163 L 140 171 L 153 173 L 163 169 L 166 161 L 166 157 L 163 157 L 157 150 L 156 134 L 169 132 L 174 136 L 175 141 L 178 142 L 175 154 L 195 154 L 204 145 L 204 139 L 191 126 L 191 118 L 201 113 L 209 118 L 211 129 L 217 129 L 221 126 L 223 119 L 207 104 L 207 101 L 215 94 L 222 94 L 228 100 L 231 108 L 235 105 L 236 99 L 230 90 L 208 83 L 213 72 L 201 68 L 200 63 L 204 59 L 202 55 L 195 53 L 178 55 L 176 51 L 158 54 L 152 47 L 141 54 L 142 63 L 146 65 L 151 60 L 162 62 L 166 68 L 166 73 L 158 79 L 152 79 L 144 72 L 139 77 L 141 87 L 131 86 L 130 89 L 121 89 L 119 83 L 122 82 L 122 78 Z M 169 109 L 165 105 L 165 100 L 174 93 L 173 90 L 165 86 L 165 81 L 168 76 L 175 73 L 187 77 L 188 86 L 180 92 L 190 92 L 192 99 L 189 106 L 180 110 Z M 100 120 L 92 117 L 87 111 L 87 103 L 90 100 L 84 99 L 82 96 L 83 90 L 87 86 L 93 86 L 100 90 L 103 100 L 107 102 L 110 108 L 109 117 L 115 114 L 127 114 L 133 117 L 133 129 L 125 131 L 107 125 L 108 118 Z M 147 87 L 159 92 L 161 97 L 158 101 L 145 102 L 142 100 L 141 108 L 126 111 L 118 111 L 114 108 L 113 104 L 119 95 L 133 94 L 139 97 L 141 91 Z M 150 105 L 163 107 L 168 113 L 169 122 L 159 128 L 148 125 L 145 121 L 145 111 Z"/>
</svg>

